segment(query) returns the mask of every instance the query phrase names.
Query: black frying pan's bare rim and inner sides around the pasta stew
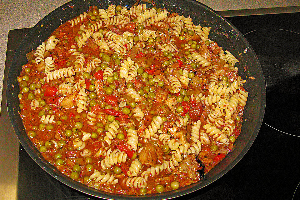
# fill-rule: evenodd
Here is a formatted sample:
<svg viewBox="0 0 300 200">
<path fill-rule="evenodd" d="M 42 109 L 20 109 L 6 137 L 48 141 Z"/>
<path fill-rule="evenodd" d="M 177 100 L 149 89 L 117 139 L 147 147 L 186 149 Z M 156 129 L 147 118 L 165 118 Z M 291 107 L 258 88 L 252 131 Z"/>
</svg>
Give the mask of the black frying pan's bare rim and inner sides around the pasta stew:
<svg viewBox="0 0 300 200">
<path fill-rule="evenodd" d="M 157 3 L 157 8 L 167 8 L 171 13 L 177 12 L 180 15 L 185 15 L 186 17 L 190 15 L 194 24 L 200 24 L 202 27 L 211 27 L 209 38 L 217 42 L 224 50 L 229 50 L 233 55 L 236 55 L 239 60 L 239 63 L 237 63 L 236 66 L 239 68 L 239 74 L 242 78 L 247 80 L 244 84 L 244 88 L 246 88 L 249 92 L 249 97 L 244 110 L 242 133 L 235 142 L 236 148 L 234 151 L 229 153 L 226 158 L 207 173 L 206 177 L 201 181 L 180 188 L 176 191 L 143 196 L 143 198 L 149 200 L 168 199 L 188 194 L 207 186 L 227 173 L 234 165 L 237 164 L 237 162 L 241 160 L 254 142 L 262 124 L 266 105 L 266 85 L 261 66 L 252 47 L 243 37 L 241 32 L 236 29 L 236 27 L 228 22 L 224 17 L 219 16 L 211 8 L 208 8 L 197 1 L 176 0 L 169 2 L 157 0 L 155 2 Z M 133 5 L 133 3 L 133 1 L 122 1 L 121 5 Z M 106 199 L 135 199 L 138 197 L 98 191 L 94 188 L 73 181 L 71 178 L 60 173 L 54 166 L 49 164 L 33 146 L 30 139 L 27 137 L 22 124 L 22 119 L 18 114 L 19 84 L 17 82 L 17 76 L 19 76 L 22 70 L 22 65 L 27 63 L 26 54 L 32 49 L 36 49 L 37 46 L 45 41 L 62 22 L 66 22 L 67 20 L 86 12 L 90 5 L 97 5 L 98 8 L 107 8 L 109 4 L 118 5 L 120 4 L 120 1 L 113 0 L 110 2 L 105 0 L 99 2 L 97 0 L 73 0 L 48 14 L 32 28 L 18 47 L 15 56 L 12 59 L 7 80 L 7 107 L 12 126 L 23 148 L 47 173 L 66 185 L 95 197 L 102 197 Z"/>
</svg>

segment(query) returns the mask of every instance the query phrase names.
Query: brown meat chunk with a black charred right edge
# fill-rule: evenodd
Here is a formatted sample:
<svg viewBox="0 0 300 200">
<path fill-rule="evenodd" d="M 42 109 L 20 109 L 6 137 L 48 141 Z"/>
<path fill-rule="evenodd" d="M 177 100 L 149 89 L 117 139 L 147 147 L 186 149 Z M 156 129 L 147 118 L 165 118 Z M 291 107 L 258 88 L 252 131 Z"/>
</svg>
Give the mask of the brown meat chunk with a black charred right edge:
<svg viewBox="0 0 300 200">
<path fill-rule="evenodd" d="M 203 161 L 195 153 L 190 153 L 174 170 L 174 173 L 182 177 L 200 180 L 204 177 L 204 171 Z"/>
</svg>

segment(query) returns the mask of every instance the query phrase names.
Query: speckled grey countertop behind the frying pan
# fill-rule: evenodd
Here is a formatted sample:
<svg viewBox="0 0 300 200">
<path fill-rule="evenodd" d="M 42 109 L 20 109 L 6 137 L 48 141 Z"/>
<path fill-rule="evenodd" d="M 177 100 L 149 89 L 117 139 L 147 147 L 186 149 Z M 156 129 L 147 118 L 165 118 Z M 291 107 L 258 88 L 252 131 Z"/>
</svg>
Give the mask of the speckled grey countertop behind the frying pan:
<svg viewBox="0 0 300 200">
<path fill-rule="evenodd" d="M 300 12 L 300 0 L 198 0 L 222 15 Z M 8 31 L 33 27 L 68 0 L 1 0 L 0 4 L 0 106 Z"/>
</svg>

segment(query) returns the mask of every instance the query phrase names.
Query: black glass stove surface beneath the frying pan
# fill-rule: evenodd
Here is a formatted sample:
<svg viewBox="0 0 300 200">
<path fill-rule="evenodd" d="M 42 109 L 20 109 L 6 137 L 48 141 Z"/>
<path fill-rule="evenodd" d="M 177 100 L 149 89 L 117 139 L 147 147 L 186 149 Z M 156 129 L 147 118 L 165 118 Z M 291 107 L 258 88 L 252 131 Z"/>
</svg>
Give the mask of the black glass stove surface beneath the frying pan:
<svg viewBox="0 0 300 200">
<path fill-rule="evenodd" d="M 300 13 L 228 19 L 246 34 L 257 55 L 290 57 L 300 52 Z M 8 43 L 17 46 L 13 36 L 24 36 L 27 31 L 10 31 Z M 276 91 L 267 90 L 262 127 L 242 160 L 217 181 L 177 199 L 300 199 L 299 88 L 296 77 Z M 18 199 L 97 199 L 48 175 L 22 146 L 19 159 Z"/>
</svg>

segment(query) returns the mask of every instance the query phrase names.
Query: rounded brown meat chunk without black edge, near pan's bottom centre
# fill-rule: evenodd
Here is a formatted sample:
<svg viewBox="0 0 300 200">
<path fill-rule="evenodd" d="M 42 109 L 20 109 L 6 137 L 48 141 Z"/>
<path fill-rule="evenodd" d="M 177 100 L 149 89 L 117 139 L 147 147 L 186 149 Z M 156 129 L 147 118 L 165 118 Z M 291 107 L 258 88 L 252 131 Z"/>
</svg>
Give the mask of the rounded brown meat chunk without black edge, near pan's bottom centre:
<svg viewBox="0 0 300 200">
<path fill-rule="evenodd" d="M 163 150 L 159 147 L 147 143 L 138 154 L 138 160 L 148 167 L 163 163 Z"/>
</svg>

